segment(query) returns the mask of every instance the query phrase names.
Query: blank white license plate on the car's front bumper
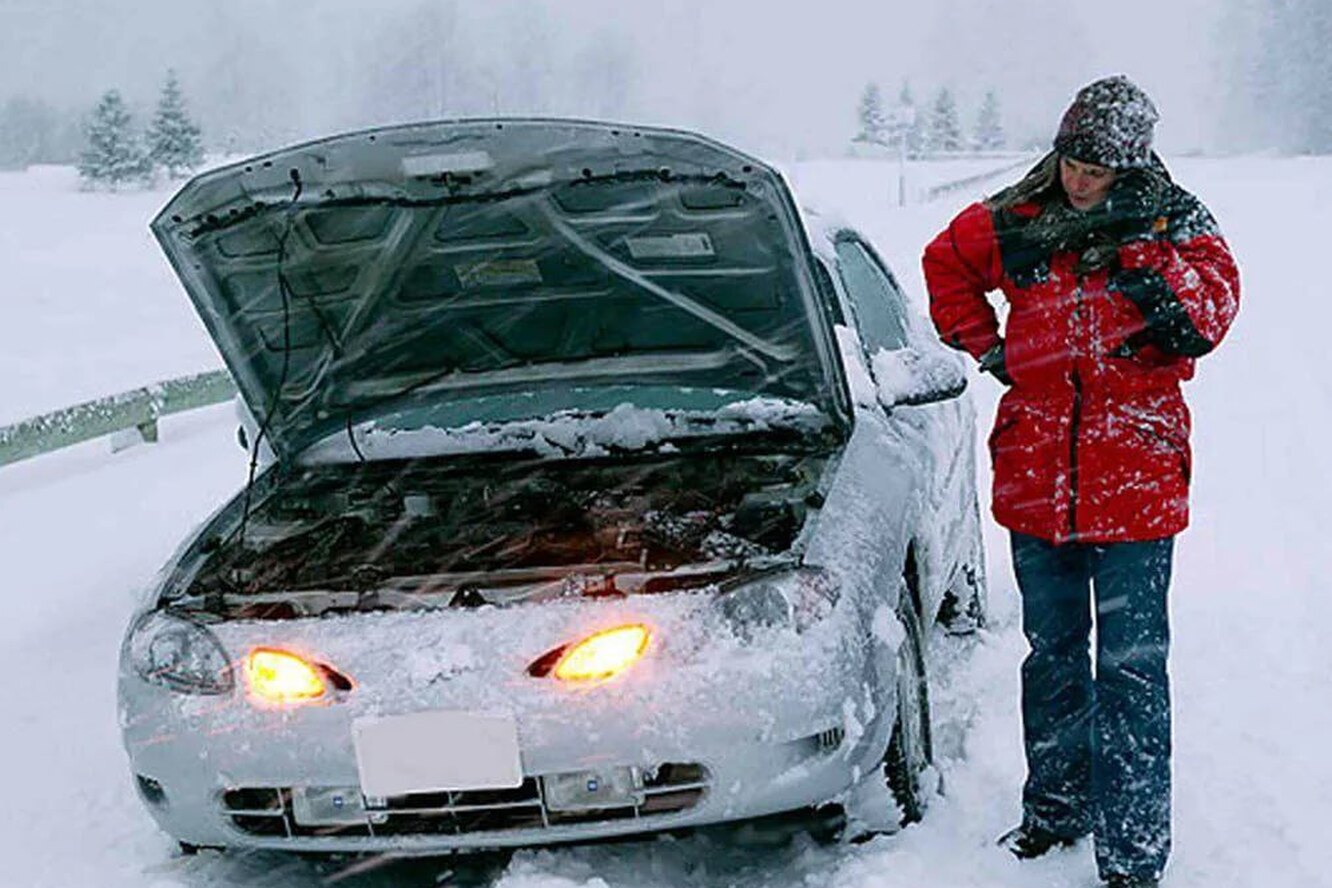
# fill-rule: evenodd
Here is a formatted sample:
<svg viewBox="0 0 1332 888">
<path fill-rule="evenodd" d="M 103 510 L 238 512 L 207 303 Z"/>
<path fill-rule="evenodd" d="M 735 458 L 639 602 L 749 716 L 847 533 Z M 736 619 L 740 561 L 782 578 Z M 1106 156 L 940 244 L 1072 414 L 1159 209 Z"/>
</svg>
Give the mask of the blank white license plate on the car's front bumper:
<svg viewBox="0 0 1332 888">
<path fill-rule="evenodd" d="M 511 715 L 430 711 L 352 724 L 361 792 L 398 796 L 522 785 Z"/>
</svg>

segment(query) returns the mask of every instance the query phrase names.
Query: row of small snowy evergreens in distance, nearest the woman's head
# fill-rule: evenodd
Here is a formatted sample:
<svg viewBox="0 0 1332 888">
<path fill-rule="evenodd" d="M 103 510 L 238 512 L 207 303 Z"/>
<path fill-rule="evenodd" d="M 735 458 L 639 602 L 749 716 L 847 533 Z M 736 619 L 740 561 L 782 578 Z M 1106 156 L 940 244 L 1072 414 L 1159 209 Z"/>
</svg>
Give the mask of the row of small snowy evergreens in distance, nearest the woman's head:
<svg viewBox="0 0 1332 888">
<path fill-rule="evenodd" d="M 1003 150 L 1008 145 L 999 113 L 999 95 L 990 89 L 980 101 L 970 132 L 962 125 L 952 89 L 940 87 L 928 108 L 916 105 L 910 81 L 902 81 L 896 103 L 887 105 L 879 84 L 870 81 L 856 107 L 852 141 L 902 149 L 908 157 L 963 150 Z"/>
</svg>

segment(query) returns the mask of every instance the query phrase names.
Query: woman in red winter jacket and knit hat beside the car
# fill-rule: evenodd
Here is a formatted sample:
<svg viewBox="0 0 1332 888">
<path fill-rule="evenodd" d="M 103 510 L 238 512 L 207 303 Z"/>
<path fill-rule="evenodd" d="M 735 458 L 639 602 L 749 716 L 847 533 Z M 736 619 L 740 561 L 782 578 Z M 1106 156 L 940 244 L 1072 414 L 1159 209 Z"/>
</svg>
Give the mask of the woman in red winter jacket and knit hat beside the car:
<svg viewBox="0 0 1332 888">
<path fill-rule="evenodd" d="M 924 252 L 939 335 L 1008 386 L 990 435 L 994 514 L 1031 651 L 1023 819 L 1000 844 L 1028 859 L 1091 832 L 1119 887 L 1156 885 L 1169 855 L 1166 594 L 1191 466 L 1180 382 L 1239 308 L 1215 220 L 1151 150 L 1156 120 L 1127 77 L 1090 84 L 1054 152 Z M 1003 335 L 991 290 L 1008 302 Z"/>
</svg>

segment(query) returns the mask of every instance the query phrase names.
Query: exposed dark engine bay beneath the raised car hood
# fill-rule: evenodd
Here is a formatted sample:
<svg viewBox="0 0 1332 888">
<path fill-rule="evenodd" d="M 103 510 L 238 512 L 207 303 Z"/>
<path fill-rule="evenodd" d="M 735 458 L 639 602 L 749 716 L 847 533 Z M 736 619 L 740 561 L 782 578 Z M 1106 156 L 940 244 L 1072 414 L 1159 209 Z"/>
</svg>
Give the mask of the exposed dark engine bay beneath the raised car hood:
<svg viewBox="0 0 1332 888">
<path fill-rule="evenodd" d="M 292 471 L 186 595 L 232 616 L 687 588 L 790 563 L 826 453 L 376 461 Z M 213 610 L 213 608 L 209 608 Z"/>
</svg>

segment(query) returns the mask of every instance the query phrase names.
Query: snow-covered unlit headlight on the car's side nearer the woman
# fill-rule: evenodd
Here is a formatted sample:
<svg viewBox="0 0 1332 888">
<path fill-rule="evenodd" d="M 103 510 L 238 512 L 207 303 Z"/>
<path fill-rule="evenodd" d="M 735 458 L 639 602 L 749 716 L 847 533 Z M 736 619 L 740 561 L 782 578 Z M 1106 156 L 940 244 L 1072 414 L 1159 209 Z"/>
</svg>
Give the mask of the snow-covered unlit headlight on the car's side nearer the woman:
<svg viewBox="0 0 1332 888">
<path fill-rule="evenodd" d="M 832 612 L 838 586 L 818 567 L 783 570 L 725 588 L 717 606 L 731 630 L 749 638 L 761 627 L 803 632 Z"/>
</svg>

